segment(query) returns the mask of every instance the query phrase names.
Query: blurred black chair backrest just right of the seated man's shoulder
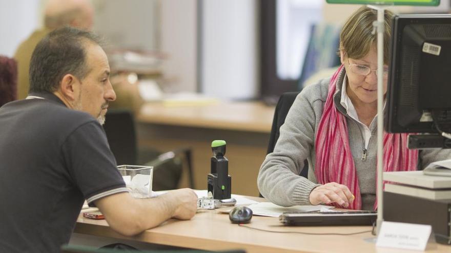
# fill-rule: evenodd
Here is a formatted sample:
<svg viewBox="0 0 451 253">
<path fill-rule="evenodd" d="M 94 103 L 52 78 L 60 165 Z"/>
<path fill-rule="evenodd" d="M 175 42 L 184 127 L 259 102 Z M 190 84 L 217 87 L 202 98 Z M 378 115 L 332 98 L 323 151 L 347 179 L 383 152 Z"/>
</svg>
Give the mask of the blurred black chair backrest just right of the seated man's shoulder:
<svg viewBox="0 0 451 253">
<path fill-rule="evenodd" d="M 137 144 L 133 114 L 128 110 L 112 109 L 105 117 L 104 129 L 117 165 L 136 165 Z"/>
</svg>

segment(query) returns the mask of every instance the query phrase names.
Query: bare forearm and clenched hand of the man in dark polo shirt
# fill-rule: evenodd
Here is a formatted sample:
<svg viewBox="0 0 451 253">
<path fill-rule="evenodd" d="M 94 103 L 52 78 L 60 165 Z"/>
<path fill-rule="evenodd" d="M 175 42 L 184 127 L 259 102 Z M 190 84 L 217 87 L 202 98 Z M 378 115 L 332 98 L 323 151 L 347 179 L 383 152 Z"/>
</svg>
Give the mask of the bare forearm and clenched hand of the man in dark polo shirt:
<svg viewBox="0 0 451 253">
<path fill-rule="evenodd" d="M 191 219 L 197 210 L 197 195 L 191 189 L 169 191 L 155 198 L 133 198 L 122 192 L 94 202 L 110 227 L 125 236 L 139 234 L 170 218 Z"/>
</svg>

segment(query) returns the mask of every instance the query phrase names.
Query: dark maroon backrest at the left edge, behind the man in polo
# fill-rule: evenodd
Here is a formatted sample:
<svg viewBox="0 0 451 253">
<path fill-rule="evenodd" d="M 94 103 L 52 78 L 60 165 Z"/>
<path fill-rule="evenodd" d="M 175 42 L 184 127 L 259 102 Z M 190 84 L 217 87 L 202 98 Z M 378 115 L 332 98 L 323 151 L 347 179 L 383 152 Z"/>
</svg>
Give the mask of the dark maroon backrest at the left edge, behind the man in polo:
<svg viewBox="0 0 451 253">
<path fill-rule="evenodd" d="M 17 63 L 0 56 L 0 107 L 17 98 Z"/>
</svg>

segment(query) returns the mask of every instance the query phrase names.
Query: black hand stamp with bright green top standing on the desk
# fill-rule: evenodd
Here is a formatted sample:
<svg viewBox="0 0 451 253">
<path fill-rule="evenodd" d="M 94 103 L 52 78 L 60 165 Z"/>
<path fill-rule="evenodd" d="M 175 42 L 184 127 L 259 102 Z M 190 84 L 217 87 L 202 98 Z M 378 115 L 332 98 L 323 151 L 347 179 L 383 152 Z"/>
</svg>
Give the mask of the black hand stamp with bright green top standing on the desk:
<svg viewBox="0 0 451 253">
<path fill-rule="evenodd" d="M 207 189 L 214 199 L 230 199 L 232 195 L 232 177 L 229 175 L 229 160 L 226 154 L 226 141 L 212 142 L 211 173 L 208 174 Z"/>
</svg>

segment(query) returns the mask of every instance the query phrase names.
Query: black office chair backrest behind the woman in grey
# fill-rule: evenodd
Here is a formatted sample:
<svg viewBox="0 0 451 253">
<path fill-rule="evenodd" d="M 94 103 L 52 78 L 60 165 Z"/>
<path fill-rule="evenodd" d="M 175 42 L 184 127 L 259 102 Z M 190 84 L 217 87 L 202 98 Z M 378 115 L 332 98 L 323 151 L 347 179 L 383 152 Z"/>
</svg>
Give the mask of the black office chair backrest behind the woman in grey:
<svg viewBox="0 0 451 253">
<path fill-rule="evenodd" d="M 299 91 L 296 92 L 288 92 L 284 93 L 280 96 L 279 101 L 276 105 L 276 110 L 274 111 L 273 125 L 271 127 L 271 135 L 270 141 L 268 144 L 268 154 L 274 151 L 274 147 L 276 146 L 277 140 L 280 135 L 280 126 L 285 123 L 286 114 L 290 110 L 293 102 L 296 99 L 296 96 L 299 94 Z M 307 178 L 307 173 L 309 172 L 309 164 L 307 160 L 304 161 L 304 168 L 302 169 L 300 176 Z"/>
</svg>

